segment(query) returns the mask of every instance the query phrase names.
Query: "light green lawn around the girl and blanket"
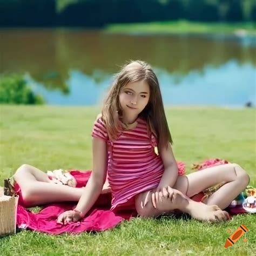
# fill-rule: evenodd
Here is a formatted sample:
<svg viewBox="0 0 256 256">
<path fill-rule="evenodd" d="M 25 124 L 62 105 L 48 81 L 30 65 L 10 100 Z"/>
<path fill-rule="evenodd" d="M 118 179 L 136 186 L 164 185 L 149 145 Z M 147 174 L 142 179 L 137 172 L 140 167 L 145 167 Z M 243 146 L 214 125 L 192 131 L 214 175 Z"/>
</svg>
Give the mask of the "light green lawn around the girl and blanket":
<svg viewBox="0 0 256 256">
<path fill-rule="evenodd" d="M 27 163 L 41 170 L 91 169 L 91 129 L 98 107 L 0 107 L 0 180 Z M 167 107 L 173 151 L 190 172 L 192 163 L 225 158 L 240 164 L 256 186 L 255 109 Z M 234 246 L 225 240 L 241 224 L 248 227 Z M 134 218 L 113 230 L 79 235 L 22 231 L 0 239 L 1 255 L 253 255 L 255 214 L 224 224 L 196 220 Z"/>
</svg>

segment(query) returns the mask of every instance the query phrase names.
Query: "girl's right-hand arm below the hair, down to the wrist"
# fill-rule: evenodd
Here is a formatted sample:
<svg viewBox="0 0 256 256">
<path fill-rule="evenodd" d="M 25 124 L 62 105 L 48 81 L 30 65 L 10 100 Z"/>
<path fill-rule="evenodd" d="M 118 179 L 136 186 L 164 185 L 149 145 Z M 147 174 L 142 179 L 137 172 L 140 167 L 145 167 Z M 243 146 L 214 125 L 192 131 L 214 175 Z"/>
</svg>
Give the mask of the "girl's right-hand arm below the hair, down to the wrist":
<svg viewBox="0 0 256 256">
<path fill-rule="evenodd" d="M 164 174 L 157 188 L 161 189 L 166 186 L 173 187 L 178 177 L 178 166 L 170 143 L 168 143 L 167 149 L 165 147 L 159 149 L 159 156 L 163 160 Z"/>
</svg>

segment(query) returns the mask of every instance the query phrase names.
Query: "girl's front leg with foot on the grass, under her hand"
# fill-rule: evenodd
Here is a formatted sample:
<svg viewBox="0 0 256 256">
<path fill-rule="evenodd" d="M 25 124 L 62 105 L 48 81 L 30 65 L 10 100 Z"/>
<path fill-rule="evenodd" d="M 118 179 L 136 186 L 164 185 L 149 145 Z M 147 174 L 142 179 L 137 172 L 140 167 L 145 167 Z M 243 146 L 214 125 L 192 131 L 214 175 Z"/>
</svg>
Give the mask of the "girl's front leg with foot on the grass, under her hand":
<svg viewBox="0 0 256 256">
<path fill-rule="evenodd" d="M 178 209 L 181 212 L 186 212 L 192 218 L 202 221 L 221 221 L 229 219 L 227 212 L 222 211 L 217 205 L 206 205 L 191 200 L 183 193 L 175 190 L 178 194 L 176 199 L 171 202 L 170 199 L 164 199 L 162 202 L 157 202 L 157 208 L 153 207 L 151 194 L 152 191 L 146 191 L 136 196 L 136 210 L 142 217 L 156 217 L 159 214 L 171 212 Z M 142 207 L 144 205 L 144 207 Z"/>
</svg>

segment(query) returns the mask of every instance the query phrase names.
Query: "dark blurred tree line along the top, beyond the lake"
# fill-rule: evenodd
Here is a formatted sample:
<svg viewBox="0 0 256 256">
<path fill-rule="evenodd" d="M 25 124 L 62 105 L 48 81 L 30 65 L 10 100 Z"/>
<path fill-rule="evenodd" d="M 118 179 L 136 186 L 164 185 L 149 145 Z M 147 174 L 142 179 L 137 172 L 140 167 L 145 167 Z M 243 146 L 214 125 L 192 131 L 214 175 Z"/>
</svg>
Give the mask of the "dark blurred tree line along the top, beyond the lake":
<svg viewBox="0 0 256 256">
<path fill-rule="evenodd" d="M 187 19 L 256 21 L 254 0 L 0 0 L 0 26 L 84 26 Z"/>
</svg>

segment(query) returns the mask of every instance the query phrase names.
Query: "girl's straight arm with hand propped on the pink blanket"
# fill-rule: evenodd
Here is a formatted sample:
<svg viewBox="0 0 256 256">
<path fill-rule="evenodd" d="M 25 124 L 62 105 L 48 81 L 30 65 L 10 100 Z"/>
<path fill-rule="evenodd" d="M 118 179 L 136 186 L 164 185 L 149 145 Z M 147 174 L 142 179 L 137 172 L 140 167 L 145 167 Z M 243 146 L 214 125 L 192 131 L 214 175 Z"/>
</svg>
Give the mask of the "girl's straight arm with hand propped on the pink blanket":
<svg viewBox="0 0 256 256">
<path fill-rule="evenodd" d="M 74 211 L 59 215 L 57 222 L 66 224 L 78 221 L 90 210 L 102 191 L 107 171 L 107 145 L 103 139 L 92 138 L 92 173 Z"/>
</svg>

